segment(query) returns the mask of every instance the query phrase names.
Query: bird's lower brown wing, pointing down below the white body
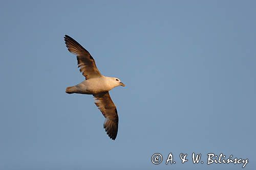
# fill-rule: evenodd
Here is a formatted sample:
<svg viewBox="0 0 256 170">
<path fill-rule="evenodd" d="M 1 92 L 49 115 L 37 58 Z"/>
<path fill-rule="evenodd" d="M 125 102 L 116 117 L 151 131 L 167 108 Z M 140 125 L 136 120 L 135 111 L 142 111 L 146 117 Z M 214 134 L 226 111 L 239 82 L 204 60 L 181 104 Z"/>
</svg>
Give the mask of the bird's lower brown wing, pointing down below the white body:
<svg viewBox="0 0 256 170">
<path fill-rule="evenodd" d="M 110 98 L 110 93 L 108 91 L 101 92 L 93 94 L 93 96 L 96 106 L 106 118 L 103 126 L 106 134 L 108 134 L 111 139 L 115 140 L 118 131 L 118 115 L 116 106 Z"/>
</svg>

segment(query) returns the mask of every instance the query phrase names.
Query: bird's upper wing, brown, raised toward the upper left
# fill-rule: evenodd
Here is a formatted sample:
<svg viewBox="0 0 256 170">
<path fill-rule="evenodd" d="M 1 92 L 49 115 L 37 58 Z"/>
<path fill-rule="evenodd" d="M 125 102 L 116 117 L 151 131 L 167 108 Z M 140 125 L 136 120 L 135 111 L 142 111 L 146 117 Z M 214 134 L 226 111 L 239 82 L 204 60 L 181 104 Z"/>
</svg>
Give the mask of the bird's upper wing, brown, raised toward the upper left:
<svg viewBox="0 0 256 170">
<path fill-rule="evenodd" d="M 77 56 L 77 64 L 82 75 L 86 79 L 101 76 L 91 54 L 70 36 L 65 35 L 64 39 L 68 50 Z"/>
</svg>

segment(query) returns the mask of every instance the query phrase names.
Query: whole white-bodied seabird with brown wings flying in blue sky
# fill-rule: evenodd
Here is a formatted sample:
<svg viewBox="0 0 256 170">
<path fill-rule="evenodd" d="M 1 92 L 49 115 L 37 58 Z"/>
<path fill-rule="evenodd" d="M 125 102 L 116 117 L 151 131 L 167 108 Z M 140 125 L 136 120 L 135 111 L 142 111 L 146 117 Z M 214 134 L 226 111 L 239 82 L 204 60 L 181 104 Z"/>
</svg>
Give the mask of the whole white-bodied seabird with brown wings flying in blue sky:
<svg viewBox="0 0 256 170">
<path fill-rule="evenodd" d="M 78 68 L 86 78 L 81 83 L 66 88 L 66 93 L 91 94 L 95 104 L 105 117 L 103 128 L 112 140 L 116 139 L 118 131 L 117 109 L 110 97 L 109 91 L 117 86 L 125 86 L 120 79 L 101 75 L 92 55 L 72 37 L 64 37 L 68 51 L 75 54 Z"/>
</svg>

